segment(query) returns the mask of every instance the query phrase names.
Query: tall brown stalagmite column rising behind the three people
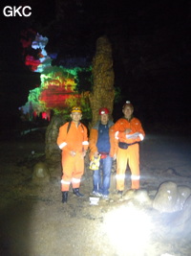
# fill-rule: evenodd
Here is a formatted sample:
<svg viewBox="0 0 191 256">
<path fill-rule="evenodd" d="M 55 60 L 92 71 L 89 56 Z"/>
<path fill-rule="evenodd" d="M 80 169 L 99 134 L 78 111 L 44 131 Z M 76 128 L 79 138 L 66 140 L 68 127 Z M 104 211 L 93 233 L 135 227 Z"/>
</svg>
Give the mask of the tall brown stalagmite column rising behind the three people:
<svg viewBox="0 0 191 256">
<path fill-rule="evenodd" d="M 93 58 L 93 92 L 90 94 L 90 105 L 93 112 L 92 125 L 98 120 L 98 109 L 109 108 L 113 111 L 115 88 L 111 43 L 106 36 L 96 40 L 96 55 Z"/>
</svg>

